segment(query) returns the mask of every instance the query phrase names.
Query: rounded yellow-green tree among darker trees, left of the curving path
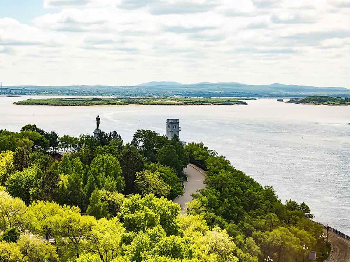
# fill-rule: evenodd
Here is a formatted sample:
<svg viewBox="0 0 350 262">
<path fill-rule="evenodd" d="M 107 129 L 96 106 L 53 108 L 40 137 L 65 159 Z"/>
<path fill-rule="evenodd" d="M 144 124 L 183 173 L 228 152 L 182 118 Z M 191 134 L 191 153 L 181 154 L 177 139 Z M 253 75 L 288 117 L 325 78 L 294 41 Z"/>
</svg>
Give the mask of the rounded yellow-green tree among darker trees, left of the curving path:
<svg viewBox="0 0 350 262">
<path fill-rule="evenodd" d="M 153 173 L 149 170 L 138 172 L 134 183 L 142 196 L 153 194 L 167 197 L 170 193 L 170 186 L 163 181 L 158 172 Z"/>
</svg>

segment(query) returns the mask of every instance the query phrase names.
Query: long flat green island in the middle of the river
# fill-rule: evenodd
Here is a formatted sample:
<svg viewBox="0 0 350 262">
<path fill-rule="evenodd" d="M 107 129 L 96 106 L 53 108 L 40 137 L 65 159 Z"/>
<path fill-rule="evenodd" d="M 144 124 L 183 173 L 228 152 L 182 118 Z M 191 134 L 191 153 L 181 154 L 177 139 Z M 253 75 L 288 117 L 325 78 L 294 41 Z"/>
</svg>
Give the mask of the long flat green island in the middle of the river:
<svg viewBox="0 0 350 262">
<path fill-rule="evenodd" d="M 195 98 L 195 97 L 72 97 L 28 99 L 18 101 L 16 105 L 61 105 L 61 106 L 89 106 L 89 105 L 246 105 L 247 102 L 237 98 Z M 247 98 L 244 100 L 255 100 Z"/>
</svg>

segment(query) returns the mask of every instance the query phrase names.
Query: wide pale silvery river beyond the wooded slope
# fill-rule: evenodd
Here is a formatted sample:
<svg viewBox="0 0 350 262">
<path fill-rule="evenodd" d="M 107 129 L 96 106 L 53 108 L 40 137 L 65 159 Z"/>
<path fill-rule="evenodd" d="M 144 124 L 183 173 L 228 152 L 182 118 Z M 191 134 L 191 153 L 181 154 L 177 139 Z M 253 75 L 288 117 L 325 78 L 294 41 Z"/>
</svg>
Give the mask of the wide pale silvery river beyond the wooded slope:
<svg viewBox="0 0 350 262">
<path fill-rule="evenodd" d="M 31 96 L 33 97 L 33 96 Z M 37 96 L 36 96 L 37 97 Z M 350 234 L 350 107 L 247 101 L 203 106 L 16 106 L 27 97 L 0 97 L 1 127 L 36 124 L 59 135 L 117 130 L 131 141 L 137 129 L 165 134 L 166 118 L 179 118 L 180 139 L 203 141 L 282 202 L 306 202 L 315 220 Z"/>
</svg>

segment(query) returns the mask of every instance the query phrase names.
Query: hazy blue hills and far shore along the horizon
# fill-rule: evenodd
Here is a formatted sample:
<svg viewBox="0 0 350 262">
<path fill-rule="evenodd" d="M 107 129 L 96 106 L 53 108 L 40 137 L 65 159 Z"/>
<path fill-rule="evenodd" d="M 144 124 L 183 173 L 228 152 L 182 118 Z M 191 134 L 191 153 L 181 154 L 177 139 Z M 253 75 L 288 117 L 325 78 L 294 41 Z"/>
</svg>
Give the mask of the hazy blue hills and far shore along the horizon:
<svg viewBox="0 0 350 262">
<path fill-rule="evenodd" d="M 5 87 L 5 86 L 3 86 Z M 327 95 L 350 97 L 345 87 L 315 87 L 299 85 L 247 85 L 238 82 L 200 82 L 182 84 L 179 82 L 152 81 L 136 86 L 8 86 L 25 88 L 27 94 L 40 95 L 116 95 L 116 96 L 205 96 L 205 97 L 306 97 Z"/>
</svg>

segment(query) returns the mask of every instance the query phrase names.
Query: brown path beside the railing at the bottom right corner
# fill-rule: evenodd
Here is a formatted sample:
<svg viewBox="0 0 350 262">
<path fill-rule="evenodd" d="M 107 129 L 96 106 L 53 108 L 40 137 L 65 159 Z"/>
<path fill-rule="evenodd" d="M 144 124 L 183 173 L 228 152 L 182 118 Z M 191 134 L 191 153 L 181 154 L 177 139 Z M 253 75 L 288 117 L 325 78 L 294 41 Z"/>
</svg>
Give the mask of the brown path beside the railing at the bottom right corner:
<svg viewBox="0 0 350 262">
<path fill-rule="evenodd" d="M 323 230 L 325 233 L 326 230 Z M 350 262 L 350 241 L 334 232 L 328 231 L 328 241 L 332 245 L 332 253 L 327 262 Z"/>
</svg>

